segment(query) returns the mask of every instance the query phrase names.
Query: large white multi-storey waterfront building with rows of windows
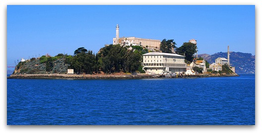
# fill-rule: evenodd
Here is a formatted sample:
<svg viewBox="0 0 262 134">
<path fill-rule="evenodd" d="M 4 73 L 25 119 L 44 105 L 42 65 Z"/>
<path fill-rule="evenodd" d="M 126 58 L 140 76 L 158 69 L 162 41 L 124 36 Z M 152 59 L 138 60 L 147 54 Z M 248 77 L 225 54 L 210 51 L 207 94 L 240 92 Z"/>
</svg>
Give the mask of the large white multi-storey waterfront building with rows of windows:
<svg viewBox="0 0 262 134">
<path fill-rule="evenodd" d="M 143 69 L 146 73 L 185 72 L 185 56 L 178 54 L 151 52 L 143 54 Z"/>
</svg>

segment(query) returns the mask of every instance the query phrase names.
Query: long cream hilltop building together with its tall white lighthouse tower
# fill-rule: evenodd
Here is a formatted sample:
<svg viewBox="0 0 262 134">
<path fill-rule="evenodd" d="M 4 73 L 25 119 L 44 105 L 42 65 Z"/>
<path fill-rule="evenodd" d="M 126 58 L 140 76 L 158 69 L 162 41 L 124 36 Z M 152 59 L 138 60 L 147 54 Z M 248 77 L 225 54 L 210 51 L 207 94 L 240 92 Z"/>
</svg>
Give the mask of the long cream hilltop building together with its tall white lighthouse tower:
<svg viewBox="0 0 262 134">
<path fill-rule="evenodd" d="M 152 40 L 152 39 L 143 39 L 136 37 L 119 37 L 119 25 L 116 26 L 116 38 L 113 38 L 113 45 L 123 45 L 123 46 L 142 46 L 149 47 L 154 49 L 160 48 L 160 40 Z"/>
</svg>

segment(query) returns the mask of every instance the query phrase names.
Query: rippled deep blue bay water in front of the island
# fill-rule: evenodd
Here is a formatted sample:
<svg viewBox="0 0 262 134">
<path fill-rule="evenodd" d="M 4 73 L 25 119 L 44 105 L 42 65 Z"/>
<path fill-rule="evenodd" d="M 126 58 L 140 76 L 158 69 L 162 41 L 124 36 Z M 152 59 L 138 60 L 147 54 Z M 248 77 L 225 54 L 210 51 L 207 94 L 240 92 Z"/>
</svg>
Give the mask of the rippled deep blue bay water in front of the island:
<svg viewBox="0 0 262 134">
<path fill-rule="evenodd" d="M 255 125 L 255 75 L 7 79 L 7 125 Z"/>
</svg>

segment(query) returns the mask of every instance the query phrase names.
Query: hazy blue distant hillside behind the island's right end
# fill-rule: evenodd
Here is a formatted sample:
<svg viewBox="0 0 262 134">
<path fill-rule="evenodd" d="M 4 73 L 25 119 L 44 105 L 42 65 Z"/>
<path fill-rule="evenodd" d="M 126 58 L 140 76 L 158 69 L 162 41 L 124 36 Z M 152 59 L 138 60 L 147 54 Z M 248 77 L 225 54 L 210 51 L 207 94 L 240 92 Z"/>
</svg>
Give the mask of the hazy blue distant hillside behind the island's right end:
<svg viewBox="0 0 262 134">
<path fill-rule="evenodd" d="M 227 52 L 219 52 L 213 55 L 200 54 L 209 64 L 215 62 L 218 57 L 227 59 Z M 250 53 L 230 52 L 230 66 L 235 67 L 236 73 L 255 73 L 255 56 Z"/>
</svg>

